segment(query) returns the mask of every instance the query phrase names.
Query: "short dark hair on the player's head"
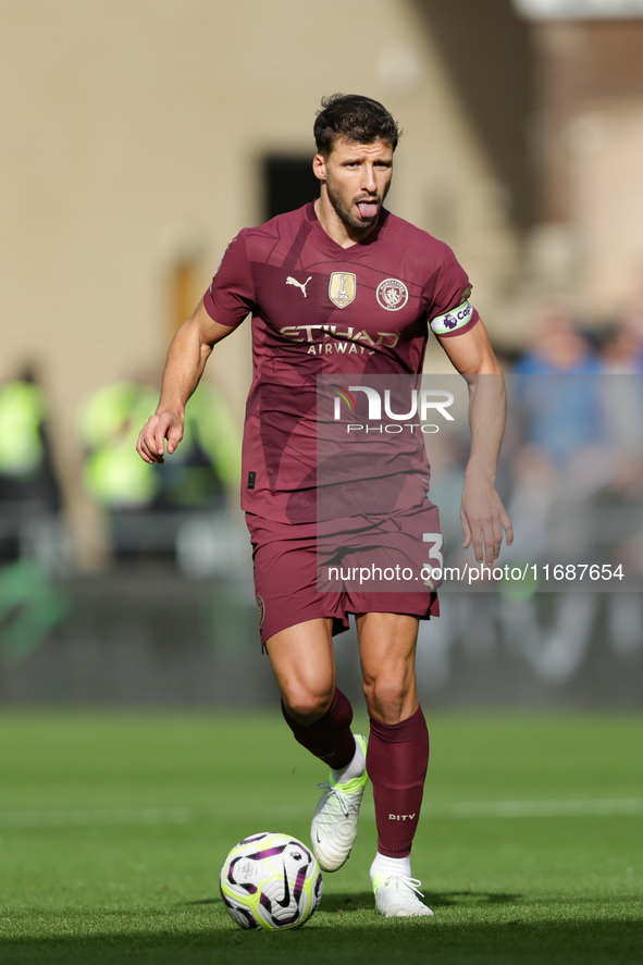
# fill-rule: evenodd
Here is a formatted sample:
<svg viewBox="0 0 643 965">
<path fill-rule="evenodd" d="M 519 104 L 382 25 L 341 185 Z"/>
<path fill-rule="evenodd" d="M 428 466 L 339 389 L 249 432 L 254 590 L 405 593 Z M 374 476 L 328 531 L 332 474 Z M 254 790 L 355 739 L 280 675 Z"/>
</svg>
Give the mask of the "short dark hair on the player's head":
<svg viewBox="0 0 643 965">
<path fill-rule="evenodd" d="M 393 120 L 386 108 L 380 101 L 359 94 L 322 97 L 313 131 L 317 149 L 324 158 L 333 150 L 337 137 L 357 144 L 384 140 L 391 144 L 393 150 L 401 137 L 397 121 Z"/>
</svg>

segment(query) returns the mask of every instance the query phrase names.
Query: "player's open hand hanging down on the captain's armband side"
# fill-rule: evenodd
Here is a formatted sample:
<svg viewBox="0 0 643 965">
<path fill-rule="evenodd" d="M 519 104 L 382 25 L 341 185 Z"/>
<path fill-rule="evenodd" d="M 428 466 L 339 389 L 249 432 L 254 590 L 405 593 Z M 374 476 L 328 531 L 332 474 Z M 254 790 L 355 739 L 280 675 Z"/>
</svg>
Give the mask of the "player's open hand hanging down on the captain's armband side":
<svg viewBox="0 0 643 965">
<path fill-rule="evenodd" d="M 465 533 L 462 548 L 473 543 L 477 562 L 487 566 L 498 558 L 505 530 L 507 546 L 514 542 L 514 528 L 491 479 L 484 473 L 467 473 L 462 488 L 460 519 Z"/>
</svg>

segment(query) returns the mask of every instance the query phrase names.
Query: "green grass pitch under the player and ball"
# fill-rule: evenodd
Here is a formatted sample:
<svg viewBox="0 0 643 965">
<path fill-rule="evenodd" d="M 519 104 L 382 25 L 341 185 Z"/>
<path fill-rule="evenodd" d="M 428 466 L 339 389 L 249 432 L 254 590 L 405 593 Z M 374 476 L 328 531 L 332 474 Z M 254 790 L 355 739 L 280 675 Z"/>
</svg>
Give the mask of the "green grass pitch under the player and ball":
<svg viewBox="0 0 643 965">
<path fill-rule="evenodd" d="M 643 962 L 643 720 L 428 716 L 413 873 L 435 917 L 375 914 L 369 797 L 321 911 L 256 933 L 223 908 L 223 858 L 307 841 L 325 777 L 281 718 L 5 712 L 0 963 Z"/>
</svg>

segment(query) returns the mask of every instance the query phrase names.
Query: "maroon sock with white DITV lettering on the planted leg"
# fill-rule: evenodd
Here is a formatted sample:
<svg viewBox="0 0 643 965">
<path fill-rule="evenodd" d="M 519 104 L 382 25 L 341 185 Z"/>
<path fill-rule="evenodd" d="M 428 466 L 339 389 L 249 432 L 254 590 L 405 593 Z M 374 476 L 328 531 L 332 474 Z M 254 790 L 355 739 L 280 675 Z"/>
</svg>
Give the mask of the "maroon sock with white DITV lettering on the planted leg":
<svg viewBox="0 0 643 965">
<path fill-rule="evenodd" d="M 409 854 L 428 766 L 429 731 L 421 707 L 399 723 L 371 717 L 367 770 L 373 784 L 380 854 Z"/>
</svg>

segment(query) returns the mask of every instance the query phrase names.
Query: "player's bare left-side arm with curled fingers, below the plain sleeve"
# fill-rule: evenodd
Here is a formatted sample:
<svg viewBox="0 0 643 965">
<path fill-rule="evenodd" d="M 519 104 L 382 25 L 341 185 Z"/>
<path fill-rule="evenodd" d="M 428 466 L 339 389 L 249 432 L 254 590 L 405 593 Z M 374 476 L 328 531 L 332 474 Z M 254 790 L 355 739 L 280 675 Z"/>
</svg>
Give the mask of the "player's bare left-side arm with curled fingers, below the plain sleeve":
<svg viewBox="0 0 643 965">
<path fill-rule="evenodd" d="M 146 462 L 162 462 L 168 440 L 168 453 L 173 453 L 183 438 L 185 406 L 199 384 L 213 346 L 234 332 L 234 326 L 214 322 L 201 301 L 191 318 L 172 339 L 163 370 L 161 398 L 154 416 L 140 430 L 138 455 Z"/>
</svg>

